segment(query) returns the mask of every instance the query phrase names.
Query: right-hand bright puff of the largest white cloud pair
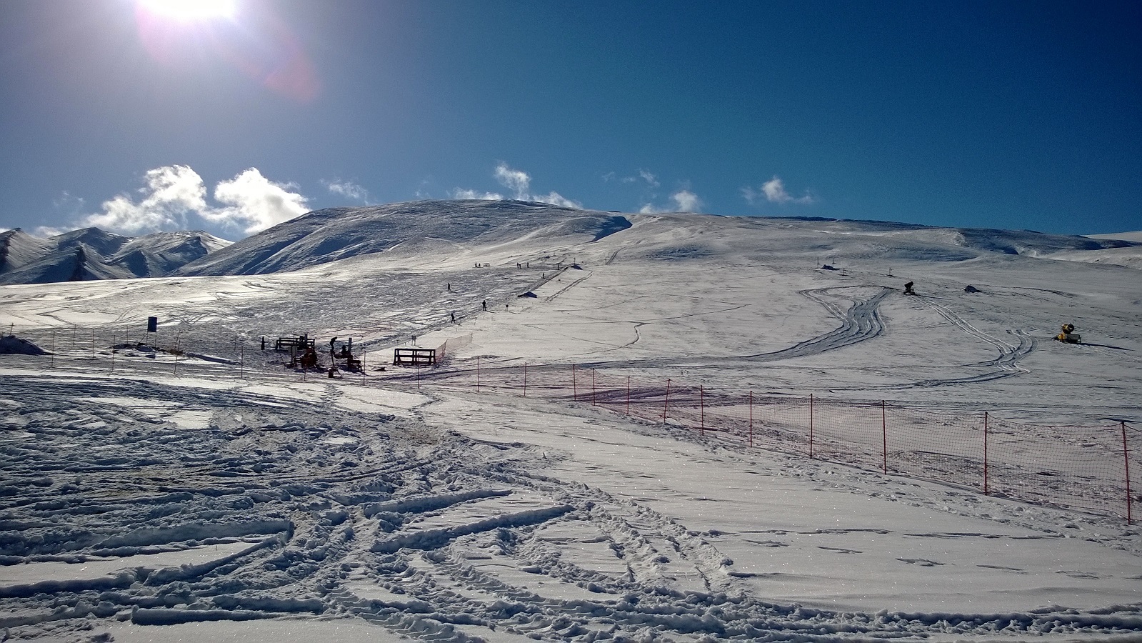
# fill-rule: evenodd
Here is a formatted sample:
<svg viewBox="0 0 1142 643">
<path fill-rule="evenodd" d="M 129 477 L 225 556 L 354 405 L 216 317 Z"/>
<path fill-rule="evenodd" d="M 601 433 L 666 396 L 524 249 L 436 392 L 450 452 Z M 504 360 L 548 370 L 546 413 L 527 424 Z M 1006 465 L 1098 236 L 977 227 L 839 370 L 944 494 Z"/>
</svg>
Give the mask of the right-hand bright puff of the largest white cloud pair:
<svg viewBox="0 0 1142 643">
<path fill-rule="evenodd" d="M 250 168 L 231 180 L 215 186 L 215 200 L 227 207 L 203 211 L 202 216 L 227 225 L 246 225 L 246 233 L 254 234 L 308 211 L 306 198 L 290 183 L 267 180 L 257 168 Z"/>
</svg>

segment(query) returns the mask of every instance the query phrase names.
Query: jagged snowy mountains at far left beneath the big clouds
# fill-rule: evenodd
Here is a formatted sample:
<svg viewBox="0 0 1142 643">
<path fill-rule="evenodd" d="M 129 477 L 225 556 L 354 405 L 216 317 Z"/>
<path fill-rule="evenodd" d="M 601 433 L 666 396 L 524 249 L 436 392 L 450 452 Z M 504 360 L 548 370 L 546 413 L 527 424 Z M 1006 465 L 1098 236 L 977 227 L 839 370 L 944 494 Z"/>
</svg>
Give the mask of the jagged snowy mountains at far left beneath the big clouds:
<svg viewBox="0 0 1142 643">
<path fill-rule="evenodd" d="M 96 227 L 49 239 L 0 234 L 0 284 L 162 276 L 230 241 L 202 231 L 122 236 Z"/>
</svg>

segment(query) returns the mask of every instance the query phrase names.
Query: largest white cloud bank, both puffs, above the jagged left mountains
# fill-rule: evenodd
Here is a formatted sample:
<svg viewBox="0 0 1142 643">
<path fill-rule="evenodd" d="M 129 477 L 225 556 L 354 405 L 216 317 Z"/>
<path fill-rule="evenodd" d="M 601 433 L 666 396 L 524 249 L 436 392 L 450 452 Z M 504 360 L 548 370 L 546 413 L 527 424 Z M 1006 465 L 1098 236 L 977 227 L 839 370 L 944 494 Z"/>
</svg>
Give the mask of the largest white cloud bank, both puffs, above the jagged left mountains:
<svg viewBox="0 0 1142 643">
<path fill-rule="evenodd" d="M 252 234 L 307 211 L 306 198 L 296 190 L 250 168 L 215 186 L 214 198 L 223 204 L 218 208 L 207 202 L 207 186 L 198 172 L 186 166 L 164 166 L 143 176 L 138 201 L 116 194 L 103 202 L 102 212 L 81 217 L 77 226 L 137 234 L 199 227 L 193 220 L 198 217 L 227 228 L 244 226 Z"/>
</svg>

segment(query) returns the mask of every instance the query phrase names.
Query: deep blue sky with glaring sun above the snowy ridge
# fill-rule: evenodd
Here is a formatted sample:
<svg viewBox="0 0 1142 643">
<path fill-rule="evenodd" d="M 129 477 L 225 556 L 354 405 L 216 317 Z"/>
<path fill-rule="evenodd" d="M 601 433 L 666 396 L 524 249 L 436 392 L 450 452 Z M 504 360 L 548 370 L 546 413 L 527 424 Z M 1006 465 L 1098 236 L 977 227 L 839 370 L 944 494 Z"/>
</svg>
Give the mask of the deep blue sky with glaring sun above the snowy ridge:
<svg viewBox="0 0 1142 643">
<path fill-rule="evenodd" d="M 0 0 L 0 227 L 500 195 L 1142 230 L 1139 2 L 211 1 Z"/>
</svg>

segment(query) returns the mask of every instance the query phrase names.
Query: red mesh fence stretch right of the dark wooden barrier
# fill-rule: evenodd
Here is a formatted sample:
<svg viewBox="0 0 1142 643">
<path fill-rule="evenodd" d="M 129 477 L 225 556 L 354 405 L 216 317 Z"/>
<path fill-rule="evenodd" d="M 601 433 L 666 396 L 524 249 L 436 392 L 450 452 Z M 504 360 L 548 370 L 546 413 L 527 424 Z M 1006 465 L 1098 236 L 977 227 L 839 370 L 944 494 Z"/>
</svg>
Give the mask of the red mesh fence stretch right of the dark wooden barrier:
<svg viewBox="0 0 1142 643">
<path fill-rule="evenodd" d="M 604 375 L 589 367 L 528 364 L 435 371 L 437 385 L 522 393 L 604 407 L 699 435 L 932 480 L 1021 501 L 1133 521 L 1142 501 L 1142 431 L 1126 423 L 1045 426 L 987 411 L 941 411 L 883 401 L 724 393 L 674 379 Z"/>
</svg>

